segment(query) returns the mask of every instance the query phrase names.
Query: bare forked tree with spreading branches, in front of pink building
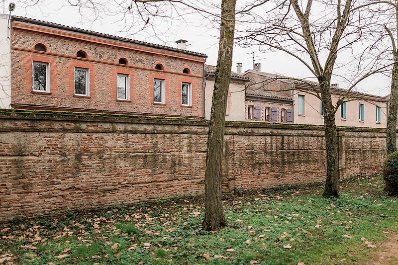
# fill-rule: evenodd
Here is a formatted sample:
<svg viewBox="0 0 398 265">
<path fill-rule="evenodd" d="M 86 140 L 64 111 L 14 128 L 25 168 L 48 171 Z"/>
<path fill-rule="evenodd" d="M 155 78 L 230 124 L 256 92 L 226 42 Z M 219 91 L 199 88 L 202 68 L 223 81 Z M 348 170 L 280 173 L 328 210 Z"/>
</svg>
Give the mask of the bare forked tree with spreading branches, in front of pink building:
<svg viewBox="0 0 398 265">
<path fill-rule="evenodd" d="M 352 88 L 375 70 L 361 72 L 351 82 L 345 95 L 334 104 L 331 96 L 331 79 L 336 70 L 341 72 L 345 63 L 337 61 L 340 53 L 352 51 L 365 37 L 367 18 L 359 15 L 355 0 L 275 0 L 272 11 L 263 8 L 260 26 L 241 27 L 239 43 L 256 44 L 266 49 L 284 51 L 301 62 L 316 78 L 318 90 L 313 94 L 322 100 L 326 149 L 326 183 L 324 197 L 340 197 L 339 159 L 335 113 Z M 259 13 L 257 13 L 259 14 Z M 264 18 L 263 18 L 264 16 Z M 352 59 L 354 60 L 354 59 Z M 351 70 L 352 71 L 352 70 Z M 364 74 L 365 73 L 365 74 Z"/>
</svg>

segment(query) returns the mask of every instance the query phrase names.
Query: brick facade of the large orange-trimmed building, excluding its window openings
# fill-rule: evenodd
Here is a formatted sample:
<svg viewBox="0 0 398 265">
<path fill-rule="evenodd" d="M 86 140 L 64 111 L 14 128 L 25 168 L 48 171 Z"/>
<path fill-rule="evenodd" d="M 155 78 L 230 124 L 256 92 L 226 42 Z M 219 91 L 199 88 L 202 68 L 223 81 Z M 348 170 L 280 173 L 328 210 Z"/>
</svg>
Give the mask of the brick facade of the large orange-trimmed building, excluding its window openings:
<svg viewBox="0 0 398 265">
<path fill-rule="evenodd" d="M 36 51 L 36 44 L 46 52 Z M 76 56 L 84 51 L 87 58 Z M 203 117 L 205 55 L 148 47 L 48 26 L 12 21 L 11 104 L 14 108 L 93 109 Z M 127 65 L 119 64 L 125 58 Z M 32 62 L 49 64 L 50 91 L 32 91 Z M 161 64 L 163 70 L 156 70 Z M 74 68 L 89 69 L 90 95 L 74 95 Z M 183 73 L 188 69 L 188 74 Z M 116 75 L 130 75 L 130 100 L 117 100 Z M 153 100 L 154 78 L 165 80 L 165 104 Z M 192 106 L 181 104 L 181 83 L 192 84 Z M 18 105 L 23 105 L 19 106 Z"/>
</svg>

